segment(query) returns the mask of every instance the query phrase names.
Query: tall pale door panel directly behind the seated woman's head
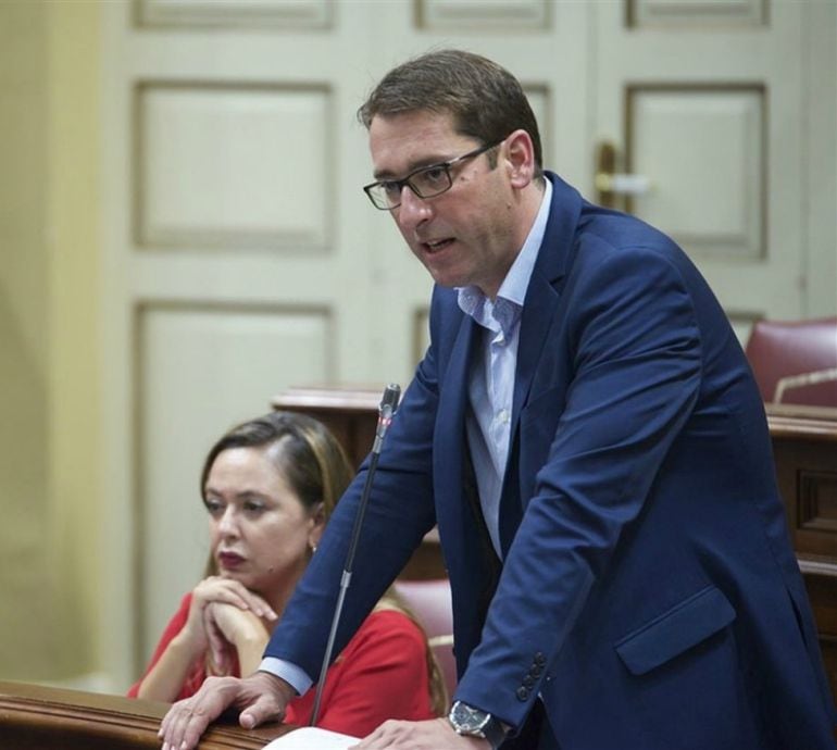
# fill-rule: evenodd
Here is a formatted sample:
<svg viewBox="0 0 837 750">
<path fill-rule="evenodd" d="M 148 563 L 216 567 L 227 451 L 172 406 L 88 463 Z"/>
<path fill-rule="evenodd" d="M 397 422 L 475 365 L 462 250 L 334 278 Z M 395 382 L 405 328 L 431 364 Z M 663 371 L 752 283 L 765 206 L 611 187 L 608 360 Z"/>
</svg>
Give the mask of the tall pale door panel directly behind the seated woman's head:
<svg viewBox="0 0 837 750">
<path fill-rule="evenodd" d="M 212 442 L 277 388 L 332 376 L 325 311 L 155 304 L 138 313 L 138 662 L 205 563 L 198 480 Z"/>
</svg>

